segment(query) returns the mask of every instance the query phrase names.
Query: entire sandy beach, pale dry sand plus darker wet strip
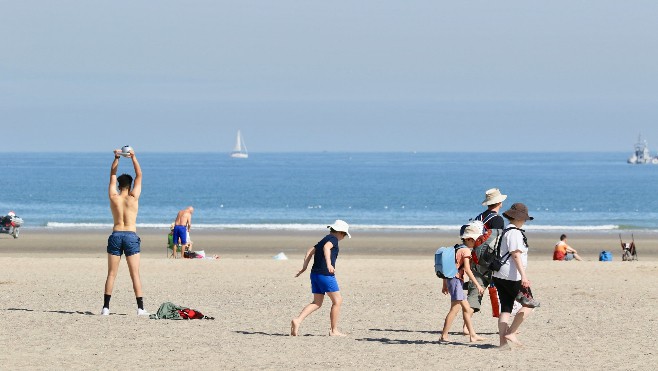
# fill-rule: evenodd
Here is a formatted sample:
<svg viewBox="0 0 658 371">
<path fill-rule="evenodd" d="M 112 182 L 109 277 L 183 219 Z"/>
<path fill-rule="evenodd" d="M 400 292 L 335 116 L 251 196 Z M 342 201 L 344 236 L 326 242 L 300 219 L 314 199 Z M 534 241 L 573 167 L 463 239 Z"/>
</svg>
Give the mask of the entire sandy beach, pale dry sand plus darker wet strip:
<svg viewBox="0 0 658 371">
<path fill-rule="evenodd" d="M 122 262 L 111 315 L 100 316 L 107 231 L 23 230 L 0 235 L 0 369 L 655 369 L 658 362 L 658 237 L 636 234 L 638 262 L 621 262 L 610 233 L 572 233 L 587 261 L 552 262 L 557 235 L 528 232 L 528 274 L 541 308 L 523 324 L 522 348 L 501 350 L 488 296 L 474 316 L 488 340 L 471 344 L 460 318 L 439 344 L 449 298 L 433 253 L 455 238 L 434 232 L 359 233 L 341 242 L 340 329 L 326 336 L 329 307 L 287 336 L 311 300 L 293 278 L 317 233 L 198 231 L 195 249 L 219 260 L 165 257 L 166 231 L 140 230 L 147 310 L 171 301 L 214 321 L 137 317 Z M 559 233 L 558 233 L 559 234 Z M 600 263 L 608 249 L 614 261 Z M 290 260 L 271 257 L 285 252 Z"/>
</svg>

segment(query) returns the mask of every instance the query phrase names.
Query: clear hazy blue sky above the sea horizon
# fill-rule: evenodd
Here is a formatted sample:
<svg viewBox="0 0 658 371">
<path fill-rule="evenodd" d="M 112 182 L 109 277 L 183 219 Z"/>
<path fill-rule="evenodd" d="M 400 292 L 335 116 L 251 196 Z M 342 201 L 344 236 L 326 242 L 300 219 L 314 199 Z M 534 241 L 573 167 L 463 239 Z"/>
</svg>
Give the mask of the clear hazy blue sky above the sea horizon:
<svg viewBox="0 0 658 371">
<path fill-rule="evenodd" d="M 0 0 L 0 152 L 658 150 L 658 2 Z M 655 151 L 653 151 L 655 152 Z"/>
</svg>

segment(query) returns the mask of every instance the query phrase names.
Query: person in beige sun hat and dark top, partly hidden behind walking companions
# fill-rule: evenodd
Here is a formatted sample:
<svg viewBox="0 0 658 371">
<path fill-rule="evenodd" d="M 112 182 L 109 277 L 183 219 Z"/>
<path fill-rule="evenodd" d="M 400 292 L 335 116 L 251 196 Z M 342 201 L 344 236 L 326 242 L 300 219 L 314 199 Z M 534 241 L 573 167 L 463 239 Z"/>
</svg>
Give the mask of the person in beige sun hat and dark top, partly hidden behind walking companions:
<svg viewBox="0 0 658 371">
<path fill-rule="evenodd" d="M 479 220 L 484 223 L 484 226 L 488 230 L 492 230 L 492 233 L 496 234 L 495 230 L 498 230 L 498 233 L 505 228 L 505 219 L 502 216 L 498 215 L 500 208 L 503 207 L 503 201 L 507 199 L 507 195 L 500 193 L 500 189 L 491 188 L 485 191 L 484 201 L 482 201 L 482 206 L 486 206 L 487 209 L 475 217 L 475 220 Z M 473 312 L 477 313 L 480 311 L 482 306 L 482 293 L 478 290 L 476 285 L 479 284 L 482 287 L 488 287 L 491 283 L 491 271 L 482 267 L 479 264 L 476 264 L 473 259 L 470 259 L 471 271 L 473 271 L 473 276 L 475 280 L 468 281 L 468 304 L 473 308 Z M 468 329 L 464 323 L 464 335 L 468 335 Z"/>
</svg>

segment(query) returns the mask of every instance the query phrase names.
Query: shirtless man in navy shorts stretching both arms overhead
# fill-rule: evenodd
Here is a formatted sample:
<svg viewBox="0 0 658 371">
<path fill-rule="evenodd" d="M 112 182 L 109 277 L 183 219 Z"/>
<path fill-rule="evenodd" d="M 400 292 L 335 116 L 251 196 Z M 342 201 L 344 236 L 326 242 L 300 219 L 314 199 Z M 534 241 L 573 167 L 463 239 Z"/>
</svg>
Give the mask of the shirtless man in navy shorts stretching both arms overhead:
<svg viewBox="0 0 658 371">
<path fill-rule="evenodd" d="M 126 254 L 130 278 L 133 281 L 133 290 L 137 299 L 137 315 L 148 315 L 144 310 L 142 298 L 142 282 L 139 278 L 139 244 L 137 236 L 137 210 L 139 209 L 139 195 L 142 192 L 142 169 L 137 162 L 135 152 L 130 150 L 126 157 L 130 158 L 135 168 L 135 184 L 133 178 L 128 174 L 122 174 L 117 178 L 119 167 L 120 149 L 114 150 L 114 161 L 110 170 L 110 185 L 108 197 L 110 198 L 110 210 L 114 219 L 112 234 L 107 239 L 107 279 L 105 280 L 105 297 L 101 314 L 110 314 L 110 298 L 114 289 L 114 280 L 119 271 L 121 255 Z M 117 191 L 118 183 L 118 191 Z M 130 189 L 132 185 L 132 190 Z"/>
</svg>

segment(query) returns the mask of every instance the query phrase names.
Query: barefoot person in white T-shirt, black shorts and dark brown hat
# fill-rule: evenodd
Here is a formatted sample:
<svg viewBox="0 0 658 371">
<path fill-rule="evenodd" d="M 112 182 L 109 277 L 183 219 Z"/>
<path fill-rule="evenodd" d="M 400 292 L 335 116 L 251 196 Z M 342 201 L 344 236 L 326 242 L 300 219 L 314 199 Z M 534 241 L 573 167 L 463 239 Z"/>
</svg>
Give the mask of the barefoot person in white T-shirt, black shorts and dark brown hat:
<svg viewBox="0 0 658 371">
<path fill-rule="evenodd" d="M 503 216 L 509 220 L 500 241 L 500 257 L 504 264 L 499 271 L 493 274 L 500 302 L 498 334 L 501 347 L 507 345 L 508 341 L 521 345 L 517 338 L 517 331 L 523 320 L 532 313 L 532 308 L 539 306 L 539 303 L 532 298 L 530 279 L 526 274 L 528 241 L 525 231 L 521 229 L 527 220 L 534 218 L 528 215 L 528 208 L 522 203 L 513 204 L 509 210 L 503 213 Z M 527 293 L 527 296 L 524 293 Z M 510 325 L 509 319 L 515 300 L 519 301 L 523 308 L 516 313 L 514 321 Z"/>
</svg>

